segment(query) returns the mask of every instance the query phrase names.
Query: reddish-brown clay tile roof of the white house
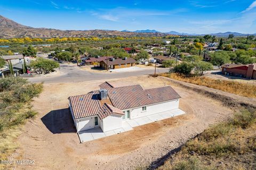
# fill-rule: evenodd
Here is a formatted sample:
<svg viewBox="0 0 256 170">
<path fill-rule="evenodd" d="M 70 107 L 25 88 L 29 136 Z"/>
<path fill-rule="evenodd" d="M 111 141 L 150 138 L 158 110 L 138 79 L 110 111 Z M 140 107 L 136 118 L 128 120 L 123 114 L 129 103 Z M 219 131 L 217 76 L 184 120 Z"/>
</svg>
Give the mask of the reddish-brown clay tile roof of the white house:
<svg viewBox="0 0 256 170">
<path fill-rule="evenodd" d="M 121 113 L 120 110 L 134 107 L 146 106 L 164 101 L 180 98 L 180 95 L 171 87 L 159 87 L 144 90 L 140 85 L 109 88 L 108 97 L 113 106 L 106 104 L 109 109 L 102 113 L 103 107 L 100 105 L 99 90 L 92 91 L 87 95 L 69 97 L 71 108 L 75 119 L 98 115 L 104 118 L 112 113 Z"/>
</svg>

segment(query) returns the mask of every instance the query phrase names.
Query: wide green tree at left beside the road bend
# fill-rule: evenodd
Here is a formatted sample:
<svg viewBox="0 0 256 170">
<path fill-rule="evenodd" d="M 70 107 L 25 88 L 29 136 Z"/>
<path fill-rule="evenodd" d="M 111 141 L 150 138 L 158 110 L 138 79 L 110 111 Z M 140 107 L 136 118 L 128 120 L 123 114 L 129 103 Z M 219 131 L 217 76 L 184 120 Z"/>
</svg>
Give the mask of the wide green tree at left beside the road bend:
<svg viewBox="0 0 256 170">
<path fill-rule="evenodd" d="M 37 74 L 50 73 L 59 66 L 59 63 L 41 57 L 37 58 L 36 61 L 31 61 L 30 63 L 30 67 L 35 69 Z"/>
</svg>

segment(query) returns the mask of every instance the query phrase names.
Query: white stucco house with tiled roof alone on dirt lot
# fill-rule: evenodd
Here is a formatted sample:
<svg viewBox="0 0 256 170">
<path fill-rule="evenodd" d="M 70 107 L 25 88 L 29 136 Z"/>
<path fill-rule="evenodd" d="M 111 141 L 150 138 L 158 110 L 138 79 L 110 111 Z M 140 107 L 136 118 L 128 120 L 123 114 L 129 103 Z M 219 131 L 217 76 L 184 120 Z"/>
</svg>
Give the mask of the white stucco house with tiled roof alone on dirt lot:
<svg viewBox="0 0 256 170">
<path fill-rule="evenodd" d="M 171 86 L 143 89 L 140 85 L 114 87 L 105 82 L 100 88 L 68 98 L 77 132 L 123 128 L 123 121 L 178 109 L 181 98 Z"/>
</svg>

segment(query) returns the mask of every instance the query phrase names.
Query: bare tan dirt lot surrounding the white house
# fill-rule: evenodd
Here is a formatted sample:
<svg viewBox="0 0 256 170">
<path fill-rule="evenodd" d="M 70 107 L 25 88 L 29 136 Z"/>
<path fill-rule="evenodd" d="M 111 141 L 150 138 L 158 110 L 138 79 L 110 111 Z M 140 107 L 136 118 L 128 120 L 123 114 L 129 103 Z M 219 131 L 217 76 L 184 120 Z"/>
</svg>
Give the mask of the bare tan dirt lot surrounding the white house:
<svg viewBox="0 0 256 170">
<path fill-rule="evenodd" d="M 98 89 L 102 82 L 45 84 L 43 93 L 34 101 L 34 109 L 39 114 L 26 123 L 17 139 L 20 149 L 10 157 L 35 160 L 35 164 L 15 165 L 15 168 L 135 169 L 150 164 L 232 113 L 218 101 L 165 79 L 144 75 L 113 80 L 120 85 L 138 83 L 144 88 L 171 84 L 182 97 L 180 108 L 187 114 L 81 144 L 68 111 L 67 98 Z"/>
</svg>

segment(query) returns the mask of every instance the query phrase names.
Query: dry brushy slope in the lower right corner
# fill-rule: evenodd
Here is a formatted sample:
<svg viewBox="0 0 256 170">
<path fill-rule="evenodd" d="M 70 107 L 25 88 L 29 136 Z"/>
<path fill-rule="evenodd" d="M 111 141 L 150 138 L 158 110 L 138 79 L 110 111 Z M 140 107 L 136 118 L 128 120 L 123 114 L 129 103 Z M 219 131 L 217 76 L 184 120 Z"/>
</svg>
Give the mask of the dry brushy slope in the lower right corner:
<svg viewBox="0 0 256 170">
<path fill-rule="evenodd" d="M 158 169 L 256 169 L 256 111 L 242 110 L 189 140 Z"/>
</svg>

